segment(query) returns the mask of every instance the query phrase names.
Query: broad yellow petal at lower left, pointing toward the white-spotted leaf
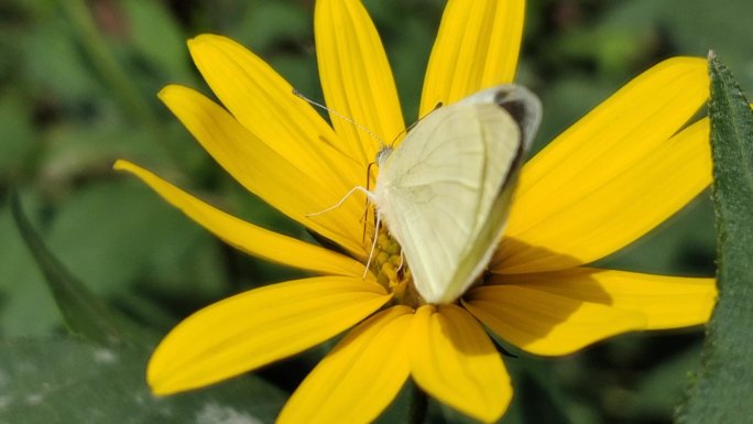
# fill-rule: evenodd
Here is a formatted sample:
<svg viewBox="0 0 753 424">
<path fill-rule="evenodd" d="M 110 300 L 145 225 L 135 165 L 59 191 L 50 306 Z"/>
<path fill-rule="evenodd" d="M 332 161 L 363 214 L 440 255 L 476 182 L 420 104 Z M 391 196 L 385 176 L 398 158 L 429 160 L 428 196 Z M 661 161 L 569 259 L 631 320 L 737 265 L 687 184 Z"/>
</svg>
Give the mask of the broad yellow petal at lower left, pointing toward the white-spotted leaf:
<svg viewBox="0 0 753 424">
<path fill-rule="evenodd" d="M 156 394 L 208 385 L 297 354 L 390 300 L 358 278 L 290 281 L 228 297 L 189 316 L 157 346 L 146 371 Z"/>
</svg>

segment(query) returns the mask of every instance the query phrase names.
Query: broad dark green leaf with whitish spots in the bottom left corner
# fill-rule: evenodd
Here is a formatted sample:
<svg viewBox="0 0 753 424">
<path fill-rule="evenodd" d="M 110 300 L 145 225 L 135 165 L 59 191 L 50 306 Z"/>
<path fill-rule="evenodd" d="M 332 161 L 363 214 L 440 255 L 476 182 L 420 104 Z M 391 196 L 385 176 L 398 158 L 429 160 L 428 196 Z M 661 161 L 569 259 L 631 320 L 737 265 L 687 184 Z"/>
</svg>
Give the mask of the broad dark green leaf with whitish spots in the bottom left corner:
<svg viewBox="0 0 753 424">
<path fill-rule="evenodd" d="M 146 352 L 75 339 L 0 343 L 0 422 L 24 424 L 270 423 L 286 394 L 254 376 L 153 396 Z"/>
</svg>

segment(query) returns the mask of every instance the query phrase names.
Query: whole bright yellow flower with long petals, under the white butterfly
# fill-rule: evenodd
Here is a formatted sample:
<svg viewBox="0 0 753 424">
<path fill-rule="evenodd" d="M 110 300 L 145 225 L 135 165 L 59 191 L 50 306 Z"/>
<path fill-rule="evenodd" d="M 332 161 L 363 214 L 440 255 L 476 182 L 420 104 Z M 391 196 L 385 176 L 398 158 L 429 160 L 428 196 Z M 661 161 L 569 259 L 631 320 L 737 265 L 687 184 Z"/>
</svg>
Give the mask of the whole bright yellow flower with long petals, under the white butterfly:
<svg viewBox="0 0 753 424">
<path fill-rule="evenodd" d="M 513 80 L 523 10 L 523 0 L 448 2 L 421 116 Z M 318 0 L 315 32 L 327 105 L 381 139 L 394 139 L 405 123 L 361 3 Z M 678 132 L 708 97 L 703 59 L 658 64 L 531 160 L 482 284 L 455 304 L 419 305 L 406 301 L 405 285 L 389 267 L 362 278 L 371 247 L 362 237 L 362 197 L 307 216 L 364 185 L 378 143 L 342 119 L 332 118 L 330 127 L 234 42 L 201 35 L 188 45 L 225 108 L 179 86 L 164 88 L 160 98 L 245 188 L 345 253 L 237 219 L 119 161 L 117 168 L 139 176 L 228 243 L 321 275 L 241 293 L 185 319 L 150 361 L 155 393 L 208 385 L 353 327 L 303 381 L 279 422 L 372 421 L 408 377 L 440 402 L 493 422 L 512 388 L 484 326 L 525 351 L 559 356 L 620 333 L 709 318 L 717 293 L 711 279 L 583 267 L 646 233 L 710 183 L 708 121 Z"/>
</svg>

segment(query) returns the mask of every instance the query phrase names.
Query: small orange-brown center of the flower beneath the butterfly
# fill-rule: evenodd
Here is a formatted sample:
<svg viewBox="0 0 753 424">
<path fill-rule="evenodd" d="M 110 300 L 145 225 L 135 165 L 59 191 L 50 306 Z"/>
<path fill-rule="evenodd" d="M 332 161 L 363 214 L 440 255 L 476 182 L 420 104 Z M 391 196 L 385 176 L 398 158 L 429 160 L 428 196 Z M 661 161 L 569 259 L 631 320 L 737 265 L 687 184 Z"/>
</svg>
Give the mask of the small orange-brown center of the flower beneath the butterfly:
<svg viewBox="0 0 753 424">
<path fill-rule="evenodd" d="M 411 307 L 426 303 L 413 285 L 411 270 L 401 254 L 400 244 L 384 227 L 379 230 L 372 254 L 370 270 L 384 289 L 394 293 L 394 303 Z"/>
</svg>

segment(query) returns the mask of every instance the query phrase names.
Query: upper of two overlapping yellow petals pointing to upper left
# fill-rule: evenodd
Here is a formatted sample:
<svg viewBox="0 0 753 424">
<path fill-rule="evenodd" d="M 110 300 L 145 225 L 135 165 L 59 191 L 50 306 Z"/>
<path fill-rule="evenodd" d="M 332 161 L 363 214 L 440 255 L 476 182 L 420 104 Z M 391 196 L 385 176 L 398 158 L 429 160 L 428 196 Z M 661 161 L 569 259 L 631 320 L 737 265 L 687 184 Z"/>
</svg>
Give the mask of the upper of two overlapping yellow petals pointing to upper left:
<svg viewBox="0 0 753 424">
<path fill-rule="evenodd" d="M 346 154 L 342 140 L 264 61 L 218 35 L 199 35 L 188 47 L 220 101 L 269 149 L 308 180 L 332 185 L 340 196 L 363 184 L 365 170 Z"/>
</svg>

